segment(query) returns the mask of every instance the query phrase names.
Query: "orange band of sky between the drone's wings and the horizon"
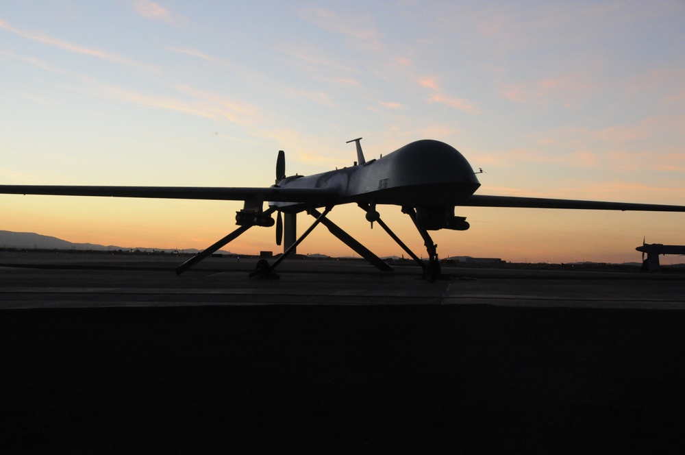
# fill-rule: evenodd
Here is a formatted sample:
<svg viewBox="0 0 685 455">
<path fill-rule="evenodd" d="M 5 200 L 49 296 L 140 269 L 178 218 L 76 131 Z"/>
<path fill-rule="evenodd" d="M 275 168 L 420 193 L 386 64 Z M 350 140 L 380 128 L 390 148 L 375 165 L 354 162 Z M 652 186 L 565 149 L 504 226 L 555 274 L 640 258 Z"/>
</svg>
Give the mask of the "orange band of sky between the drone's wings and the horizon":
<svg viewBox="0 0 685 455">
<path fill-rule="evenodd" d="M 28 197 L 5 195 L 3 230 L 36 232 L 73 243 L 116 245 L 122 248 L 204 249 L 236 228 L 233 202 L 196 202 L 79 197 Z M 187 201 L 186 201 L 187 202 Z M 409 217 L 397 207 L 379 206 L 384 221 L 418 256 L 426 257 L 423 241 Z M 681 244 L 679 215 L 639 212 L 590 212 L 586 210 L 538 210 L 457 208 L 471 229 L 465 232 L 431 232 L 440 257 L 472 256 L 501 258 L 510 262 L 637 262 L 634 251 L 643 235 L 649 241 Z M 582 212 L 582 213 L 580 213 Z M 408 258 L 381 227 L 373 230 L 356 206 L 338 206 L 329 214 L 362 245 L 377 256 Z M 298 216 L 298 232 L 314 221 Z M 254 227 L 225 251 L 258 254 L 282 251 L 275 245 L 273 227 Z M 317 227 L 298 247 L 299 254 L 358 256 L 334 238 L 324 226 Z"/>
</svg>

